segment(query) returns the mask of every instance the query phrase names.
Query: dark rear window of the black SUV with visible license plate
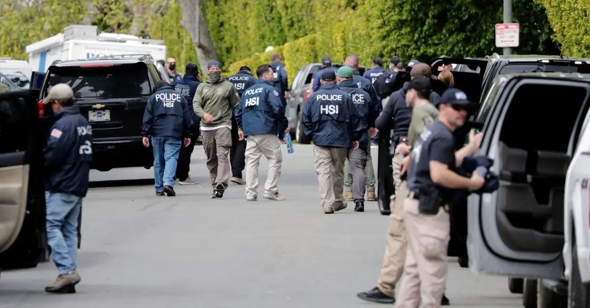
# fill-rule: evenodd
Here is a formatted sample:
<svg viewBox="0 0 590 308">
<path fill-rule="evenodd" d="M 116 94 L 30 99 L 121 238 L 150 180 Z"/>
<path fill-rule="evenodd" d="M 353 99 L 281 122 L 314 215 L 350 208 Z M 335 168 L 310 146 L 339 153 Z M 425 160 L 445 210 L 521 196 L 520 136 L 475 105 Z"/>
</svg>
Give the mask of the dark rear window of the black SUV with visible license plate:
<svg viewBox="0 0 590 308">
<path fill-rule="evenodd" d="M 145 64 L 110 67 L 53 67 L 50 69 L 45 95 L 56 84 L 70 85 L 74 97 L 137 97 L 150 95 L 148 69 Z"/>
</svg>

